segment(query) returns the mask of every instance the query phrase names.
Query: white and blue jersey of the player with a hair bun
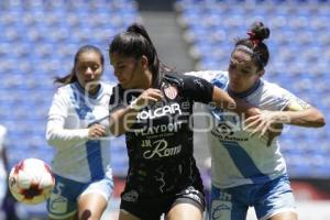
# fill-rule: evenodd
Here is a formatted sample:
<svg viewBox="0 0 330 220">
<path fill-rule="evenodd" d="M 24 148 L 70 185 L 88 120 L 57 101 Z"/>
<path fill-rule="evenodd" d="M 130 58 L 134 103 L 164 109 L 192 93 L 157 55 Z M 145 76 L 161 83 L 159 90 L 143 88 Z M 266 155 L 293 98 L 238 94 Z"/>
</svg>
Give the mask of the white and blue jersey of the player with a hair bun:
<svg viewBox="0 0 330 220">
<path fill-rule="evenodd" d="M 227 72 L 187 73 L 211 81 L 228 90 Z M 279 86 L 261 79 L 251 90 L 241 95 L 261 110 L 282 111 L 293 100 L 304 102 Z M 245 184 L 265 183 L 286 174 L 286 164 L 275 138 L 266 146 L 267 136 L 251 136 L 242 129 L 242 119 L 235 113 L 211 108 L 212 124 L 209 133 L 212 157 L 212 185 L 230 188 Z"/>
</svg>

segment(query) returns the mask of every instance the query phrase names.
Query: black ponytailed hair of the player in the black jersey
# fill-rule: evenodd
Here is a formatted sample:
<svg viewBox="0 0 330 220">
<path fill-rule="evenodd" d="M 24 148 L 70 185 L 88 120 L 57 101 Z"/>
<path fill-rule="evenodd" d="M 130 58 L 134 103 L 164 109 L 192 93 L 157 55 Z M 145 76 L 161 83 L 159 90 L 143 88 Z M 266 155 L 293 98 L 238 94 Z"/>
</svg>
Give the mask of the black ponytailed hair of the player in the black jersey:
<svg viewBox="0 0 330 220">
<path fill-rule="evenodd" d="M 109 45 L 109 55 L 121 54 L 125 57 L 141 58 L 143 55 L 148 61 L 148 68 L 153 75 L 153 87 L 156 87 L 163 72 L 169 70 L 160 59 L 153 42 L 142 24 L 133 23 L 125 32 L 117 34 Z"/>
</svg>

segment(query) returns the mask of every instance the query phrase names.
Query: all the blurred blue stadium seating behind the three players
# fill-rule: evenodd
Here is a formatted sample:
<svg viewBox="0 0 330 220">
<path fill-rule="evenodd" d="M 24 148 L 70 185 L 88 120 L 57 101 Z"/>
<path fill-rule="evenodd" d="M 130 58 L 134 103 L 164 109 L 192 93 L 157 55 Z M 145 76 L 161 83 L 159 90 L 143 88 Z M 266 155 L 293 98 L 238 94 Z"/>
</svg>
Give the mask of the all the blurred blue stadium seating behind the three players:
<svg viewBox="0 0 330 220">
<path fill-rule="evenodd" d="M 253 21 L 264 21 L 272 30 L 266 78 L 330 120 L 329 0 L 179 0 L 177 8 L 198 69 L 226 69 L 229 42 Z M 9 129 L 10 167 L 25 157 L 51 163 L 55 150 L 44 136 L 53 78 L 69 73 L 81 45 L 95 44 L 107 57 L 111 37 L 140 20 L 138 7 L 134 0 L 1 0 L 0 11 L 0 123 Z M 108 58 L 105 79 L 114 81 Z M 329 135 L 329 125 L 284 132 L 282 148 L 293 177 L 330 177 Z M 112 141 L 111 153 L 114 175 L 125 175 L 123 139 Z M 25 219 L 45 215 L 44 205 L 21 208 Z"/>
</svg>

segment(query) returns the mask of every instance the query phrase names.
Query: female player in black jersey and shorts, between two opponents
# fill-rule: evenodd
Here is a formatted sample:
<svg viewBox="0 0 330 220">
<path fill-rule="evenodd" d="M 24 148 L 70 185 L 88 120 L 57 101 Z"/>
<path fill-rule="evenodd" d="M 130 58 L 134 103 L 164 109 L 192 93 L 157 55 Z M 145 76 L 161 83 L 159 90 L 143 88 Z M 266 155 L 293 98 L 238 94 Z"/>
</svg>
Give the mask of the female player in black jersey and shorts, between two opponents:
<svg viewBox="0 0 330 220">
<path fill-rule="evenodd" d="M 120 220 L 200 220 L 202 183 L 193 156 L 193 105 L 215 102 L 256 114 L 208 81 L 169 73 L 140 24 L 118 34 L 109 46 L 119 85 L 110 100 L 110 130 L 125 134 L 129 170 Z"/>
</svg>

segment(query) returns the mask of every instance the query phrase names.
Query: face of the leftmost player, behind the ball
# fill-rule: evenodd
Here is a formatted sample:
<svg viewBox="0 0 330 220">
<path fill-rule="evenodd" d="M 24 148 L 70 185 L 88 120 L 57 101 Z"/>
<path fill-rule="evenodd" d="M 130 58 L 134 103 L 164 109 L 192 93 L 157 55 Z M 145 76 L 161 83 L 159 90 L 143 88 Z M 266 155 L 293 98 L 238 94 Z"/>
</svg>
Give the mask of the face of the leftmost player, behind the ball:
<svg viewBox="0 0 330 220">
<path fill-rule="evenodd" d="M 80 86 L 90 94 L 96 92 L 103 73 L 101 55 L 94 51 L 82 52 L 78 57 L 75 70 Z"/>
</svg>

